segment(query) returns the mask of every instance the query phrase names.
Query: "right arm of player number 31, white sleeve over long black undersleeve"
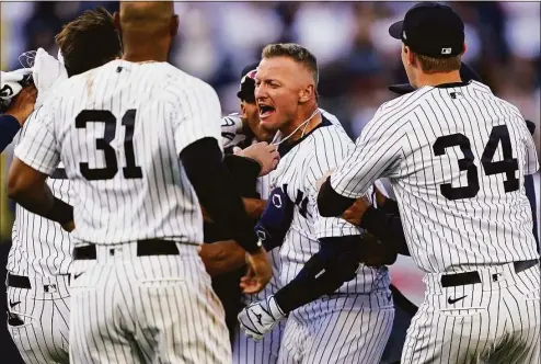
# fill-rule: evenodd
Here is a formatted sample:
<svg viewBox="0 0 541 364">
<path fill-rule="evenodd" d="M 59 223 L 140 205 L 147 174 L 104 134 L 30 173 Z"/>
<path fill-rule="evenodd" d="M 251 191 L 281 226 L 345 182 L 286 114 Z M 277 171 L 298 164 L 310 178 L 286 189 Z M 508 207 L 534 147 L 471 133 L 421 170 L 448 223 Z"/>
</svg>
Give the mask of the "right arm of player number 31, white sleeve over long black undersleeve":
<svg viewBox="0 0 541 364">
<path fill-rule="evenodd" d="M 230 237 L 249 253 L 249 274 L 241 285 L 245 293 L 256 293 L 270 280 L 272 269 L 266 251 L 252 229 L 239 190 L 223 163 L 218 96 L 208 84 L 192 88 L 189 92 L 176 91 L 182 95 L 171 117 L 184 171 L 222 236 Z"/>
</svg>

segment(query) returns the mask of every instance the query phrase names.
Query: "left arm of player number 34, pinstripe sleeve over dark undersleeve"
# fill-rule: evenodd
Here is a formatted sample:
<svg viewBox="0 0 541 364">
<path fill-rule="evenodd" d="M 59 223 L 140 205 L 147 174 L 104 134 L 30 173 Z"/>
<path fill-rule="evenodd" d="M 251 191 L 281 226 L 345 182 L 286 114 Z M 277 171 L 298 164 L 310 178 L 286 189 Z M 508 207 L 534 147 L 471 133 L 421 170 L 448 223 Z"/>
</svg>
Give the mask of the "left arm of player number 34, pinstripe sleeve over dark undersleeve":
<svg viewBox="0 0 541 364">
<path fill-rule="evenodd" d="M 404 121 L 378 110 L 349 156 L 322 184 L 318 207 L 322 216 L 341 216 L 380 177 L 395 177 L 403 153 Z"/>
</svg>

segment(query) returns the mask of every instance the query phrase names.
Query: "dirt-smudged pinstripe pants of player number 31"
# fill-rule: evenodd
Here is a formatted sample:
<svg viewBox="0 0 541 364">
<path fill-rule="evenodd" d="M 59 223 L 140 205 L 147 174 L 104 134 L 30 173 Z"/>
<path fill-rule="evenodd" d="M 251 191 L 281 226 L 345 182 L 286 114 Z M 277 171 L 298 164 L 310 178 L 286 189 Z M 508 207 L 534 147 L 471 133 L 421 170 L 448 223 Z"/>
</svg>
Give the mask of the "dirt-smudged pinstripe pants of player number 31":
<svg viewBox="0 0 541 364">
<path fill-rule="evenodd" d="M 231 363 L 221 303 L 198 255 L 137 257 L 137 243 L 74 260 L 70 357 L 77 364 Z"/>
</svg>

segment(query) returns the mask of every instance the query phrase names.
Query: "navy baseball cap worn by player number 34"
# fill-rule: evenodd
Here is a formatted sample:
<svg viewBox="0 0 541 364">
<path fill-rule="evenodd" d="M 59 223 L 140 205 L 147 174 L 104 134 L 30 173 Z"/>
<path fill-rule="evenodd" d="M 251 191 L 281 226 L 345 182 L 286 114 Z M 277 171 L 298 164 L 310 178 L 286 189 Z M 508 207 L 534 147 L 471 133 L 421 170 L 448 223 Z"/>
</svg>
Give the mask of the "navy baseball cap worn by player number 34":
<svg viewBox="0 0 541 364">
<path fill-rule="evenodd" d="M 410 9 L 404 20 L 392 24 L 389 34 L 413 52 L 434 58 L 449 58 L 464 49 L 464 23 L 449 7 L 421 2 Z"/>
</svg>

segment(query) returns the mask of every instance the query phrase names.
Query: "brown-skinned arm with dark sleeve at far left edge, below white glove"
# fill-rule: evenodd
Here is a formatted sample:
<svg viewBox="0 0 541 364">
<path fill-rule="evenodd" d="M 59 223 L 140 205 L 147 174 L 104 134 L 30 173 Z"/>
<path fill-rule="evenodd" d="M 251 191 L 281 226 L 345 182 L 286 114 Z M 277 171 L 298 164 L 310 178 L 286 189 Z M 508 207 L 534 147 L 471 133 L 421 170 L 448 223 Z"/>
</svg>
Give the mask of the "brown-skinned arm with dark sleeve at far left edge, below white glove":
<svg viewBox="0 0 541 364">
<path fill-rule="evenodd" d="M 37 90 L 34 86 L 26 87 L 11 100 L 10 106 L 0 115 L 0 152 L 8 147 L 26 118 L 34 110 Z"/>
</svg>

